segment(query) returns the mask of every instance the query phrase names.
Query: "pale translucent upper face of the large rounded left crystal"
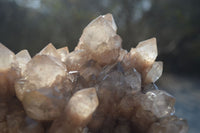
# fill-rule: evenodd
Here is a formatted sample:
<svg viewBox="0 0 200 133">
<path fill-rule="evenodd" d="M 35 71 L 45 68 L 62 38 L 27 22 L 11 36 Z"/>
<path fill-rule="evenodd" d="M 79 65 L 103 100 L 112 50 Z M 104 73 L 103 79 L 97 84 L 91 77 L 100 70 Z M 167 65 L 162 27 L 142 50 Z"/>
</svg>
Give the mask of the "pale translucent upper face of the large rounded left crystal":
<svg viewBox="0 0 200 133">
<path fill-rule="evenodd" d="M 35 56 L 28 64 L 24 77 L 36 87 L 50 86 L 58 76 L 65 76 L 66 67 L 45 55 Z"/>
</svg>

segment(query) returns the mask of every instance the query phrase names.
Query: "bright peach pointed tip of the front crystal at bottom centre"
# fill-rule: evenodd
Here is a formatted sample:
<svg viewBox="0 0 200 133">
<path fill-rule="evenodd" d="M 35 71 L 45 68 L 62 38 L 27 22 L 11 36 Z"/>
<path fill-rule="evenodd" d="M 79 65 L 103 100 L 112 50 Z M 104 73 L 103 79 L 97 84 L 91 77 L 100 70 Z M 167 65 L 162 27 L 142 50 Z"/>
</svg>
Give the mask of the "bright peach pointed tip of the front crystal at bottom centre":
<svg viewBox="0 0 200 133">
<path fill-rule="evenodd" d="M 91 119 L 98 105 L 95 88 L 80 90 L 72 96 L 65 109 L 67 119 L 74 125 L 84 126 Z"/>
</svg>

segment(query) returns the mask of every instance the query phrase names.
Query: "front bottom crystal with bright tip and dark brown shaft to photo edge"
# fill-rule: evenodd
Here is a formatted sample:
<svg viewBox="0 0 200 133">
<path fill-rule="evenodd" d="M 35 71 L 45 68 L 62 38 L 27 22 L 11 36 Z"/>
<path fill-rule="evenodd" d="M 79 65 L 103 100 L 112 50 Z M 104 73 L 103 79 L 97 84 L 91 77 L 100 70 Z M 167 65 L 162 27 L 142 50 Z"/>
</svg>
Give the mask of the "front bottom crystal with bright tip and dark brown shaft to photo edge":
<svg viewBox="0 0 200 133">
<path fill-rule="evenodd" d="M 96 89 L 87 88 L 76 92 L 69 100 L 64 116 L 54 121 L 50 133 L 81 133 L 99 104 Z"/>
</svg>

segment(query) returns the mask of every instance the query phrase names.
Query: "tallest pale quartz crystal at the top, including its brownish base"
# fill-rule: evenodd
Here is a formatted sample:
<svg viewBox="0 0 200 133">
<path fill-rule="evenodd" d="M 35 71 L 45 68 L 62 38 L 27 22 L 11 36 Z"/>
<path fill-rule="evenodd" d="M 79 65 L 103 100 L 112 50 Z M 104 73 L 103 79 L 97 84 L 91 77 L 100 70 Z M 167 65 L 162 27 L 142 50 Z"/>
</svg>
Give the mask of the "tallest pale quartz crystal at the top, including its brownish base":
<svg viewBox="0 0 200 133">
<path fill-rule="evenodd" d="M 99 16 L 83 30 L 76 50 L 87 50 L 100 65 L 111 64 L 117 60 L 121 48 L 116 30 L 111 14 Z"/>
</svg>

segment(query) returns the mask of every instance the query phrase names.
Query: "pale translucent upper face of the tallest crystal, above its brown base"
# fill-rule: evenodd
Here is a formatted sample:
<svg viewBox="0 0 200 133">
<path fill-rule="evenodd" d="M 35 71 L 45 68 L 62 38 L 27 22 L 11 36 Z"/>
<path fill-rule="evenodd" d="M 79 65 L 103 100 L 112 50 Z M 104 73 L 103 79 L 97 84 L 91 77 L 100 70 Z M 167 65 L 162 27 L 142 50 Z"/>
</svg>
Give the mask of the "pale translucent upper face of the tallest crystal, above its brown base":
<svg viewBox="0 0 200 133">
<path fill-rule="evenodd" d="M 110 14 L 99 16 L 93 20 L 83 31 L 79 43 L 88 45 L 92 50 L 116 35 L 116 25 Z M 114 28 L 114 29 L 113 29 Z"/>
</svg>

